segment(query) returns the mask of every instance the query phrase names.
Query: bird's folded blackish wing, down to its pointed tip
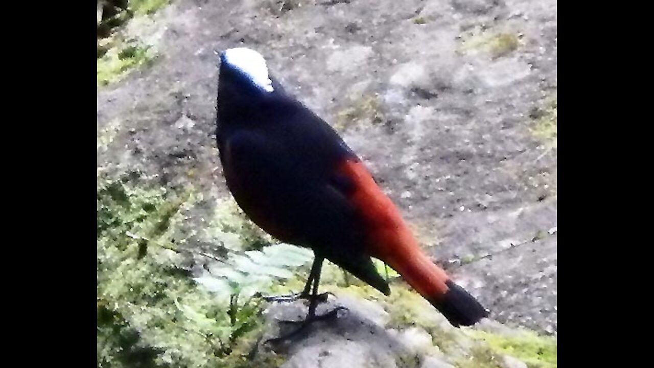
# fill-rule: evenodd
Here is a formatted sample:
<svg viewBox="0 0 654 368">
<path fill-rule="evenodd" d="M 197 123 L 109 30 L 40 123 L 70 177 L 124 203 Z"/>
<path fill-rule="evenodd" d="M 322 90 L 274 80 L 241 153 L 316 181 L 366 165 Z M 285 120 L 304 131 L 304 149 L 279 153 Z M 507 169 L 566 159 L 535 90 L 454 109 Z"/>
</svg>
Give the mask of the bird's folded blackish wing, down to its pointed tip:
<svg viewBox="0 0 654 368">
<path fill-rule="evenodd" d="M 230 191 L 254 223 L 284 242 L 312 248 L 382 293 L 390 292 L 366 251 L 365 224 L 349 197 L 355 183 L 337 170 L 338 162 L 334 170 L 314 170 L 310 149 L 292 151 L 252 131 L 232 134 L 222 151 Z"/>
</svg>

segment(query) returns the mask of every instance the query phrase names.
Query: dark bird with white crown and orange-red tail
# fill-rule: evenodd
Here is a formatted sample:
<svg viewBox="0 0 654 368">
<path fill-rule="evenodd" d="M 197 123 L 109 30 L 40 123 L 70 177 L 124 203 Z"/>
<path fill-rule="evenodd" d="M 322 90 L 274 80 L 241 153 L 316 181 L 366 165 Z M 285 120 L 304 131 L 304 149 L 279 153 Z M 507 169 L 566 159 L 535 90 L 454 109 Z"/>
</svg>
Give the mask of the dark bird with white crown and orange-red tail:
<svg viewBox="0 0 654 368">
<path fill-rule="evenodd" d="M 466 289 L 421 248 L 398 207 L 361 158 L 326 120 L 286 92 L 253 48 L 220 52 L 216 144 L 230 193 L 245 215 L 287 244 L 313 250 L 307 283 L 296 298 L 315 309 L 325 260 L 384 295 L 383 261 L 451 325 L 489 316 Z M 288 69 L 287 69 L 288 70 Z"/>
</svg>

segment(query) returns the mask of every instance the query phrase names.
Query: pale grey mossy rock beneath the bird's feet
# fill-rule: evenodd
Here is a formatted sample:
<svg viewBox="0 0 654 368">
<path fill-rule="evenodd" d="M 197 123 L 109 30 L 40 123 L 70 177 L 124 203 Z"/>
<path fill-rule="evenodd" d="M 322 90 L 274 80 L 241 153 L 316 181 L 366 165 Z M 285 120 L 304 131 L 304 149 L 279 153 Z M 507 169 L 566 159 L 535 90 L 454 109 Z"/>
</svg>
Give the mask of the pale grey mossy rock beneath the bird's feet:
<svg viewBox="0 0 654 368">
<path fill-rule="evenodd" d="M 284 368 L 527 367 L 520 358 L 485 350 L 485 344 L 475 339 L 472 330 L 452 327 L 420 297 L 407 291 L 400 293 L 391 300 L 373 303 L 336 291 L 336 297 L 318 306 L 317 314 L 326 314 L 336 306 L 345 309 L 328 320 L 313 322 L 283 342 L 266 340 L 296 330 L 298 323 L 284 321 L 303 320 L 306 306 L 299 301 L 272 304 L 266 310 L 266 325 L 271 328 L 260 340 L 259 350 L 250 356 L 256 359 L 260 352 L 272 349 L 288 357 L 281 365 Z M 520 333 L 490 320 L 480 326 L 500 338 L 510 339 Z M 547 349 L 546 344 L 551 342 L 545 342 L 543 349 Z M 513 351 L 511 354 L 523 355 Z M 534 354 L 536 359 L 542 359 L 539 354 L 542 353 Z M 539 361 L 532 366 L 555 367 Z"/>
</svg>

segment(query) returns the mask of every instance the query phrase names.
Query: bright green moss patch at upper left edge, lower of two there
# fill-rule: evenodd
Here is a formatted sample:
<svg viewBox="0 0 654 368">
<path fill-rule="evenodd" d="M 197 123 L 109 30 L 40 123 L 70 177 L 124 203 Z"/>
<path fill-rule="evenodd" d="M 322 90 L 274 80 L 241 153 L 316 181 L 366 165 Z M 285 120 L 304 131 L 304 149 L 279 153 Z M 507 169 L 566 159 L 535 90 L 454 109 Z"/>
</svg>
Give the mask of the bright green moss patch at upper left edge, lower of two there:
<svg viewBox="0 0 654 368">
<path fill-rule="evenodd" d="M 106 86 L 120 81 L 129 70 L 148 65 L 154 57 L 150 46 L 141 45 L 136 41 L 112 46 L 97 59 L 97 85 Z"/>
</svg>

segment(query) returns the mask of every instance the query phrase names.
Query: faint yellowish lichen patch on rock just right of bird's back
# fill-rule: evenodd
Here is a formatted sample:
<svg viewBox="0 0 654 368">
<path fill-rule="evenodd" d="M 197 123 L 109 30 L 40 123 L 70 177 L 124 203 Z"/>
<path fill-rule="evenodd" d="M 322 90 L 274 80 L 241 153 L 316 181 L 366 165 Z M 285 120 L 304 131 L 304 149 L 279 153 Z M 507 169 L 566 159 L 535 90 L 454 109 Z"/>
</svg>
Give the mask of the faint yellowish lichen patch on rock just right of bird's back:
<svg viewBox="0 0 654 368">
<path fill-rule="evenodd" d="M 349 107 L 336 114 L 334 128 L 342 132 L 351 127 L 381 124 L 384 121 L 379 98 L 364 95 L 354 99 Z"/>
</svg>

